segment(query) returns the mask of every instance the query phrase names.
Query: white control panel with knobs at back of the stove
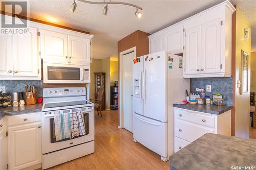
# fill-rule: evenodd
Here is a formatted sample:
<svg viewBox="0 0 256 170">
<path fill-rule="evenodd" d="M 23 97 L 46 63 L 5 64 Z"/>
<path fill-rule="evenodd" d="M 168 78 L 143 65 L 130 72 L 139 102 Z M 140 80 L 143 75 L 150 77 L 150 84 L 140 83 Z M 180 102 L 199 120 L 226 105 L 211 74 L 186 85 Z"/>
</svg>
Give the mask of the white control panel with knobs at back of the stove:
<svg viewBox="0 0 256 170">
<path fill-rule="evenodd" d="M 44 88 L 44 98 L 57 96 L 76 96 L 86 95 L 86 87 L 59 87 L 59 88 Z"/>
</svg>

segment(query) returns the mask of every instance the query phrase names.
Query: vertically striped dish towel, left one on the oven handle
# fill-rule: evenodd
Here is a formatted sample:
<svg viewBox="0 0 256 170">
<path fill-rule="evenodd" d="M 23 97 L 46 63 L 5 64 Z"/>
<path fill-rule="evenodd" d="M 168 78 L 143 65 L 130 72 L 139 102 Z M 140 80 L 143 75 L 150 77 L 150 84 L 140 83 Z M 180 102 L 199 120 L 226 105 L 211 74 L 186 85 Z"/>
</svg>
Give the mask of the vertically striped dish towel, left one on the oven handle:
<svg viewBox="0 0 256 170">
<path fill-rule="evenodd" d="M 56 141 L 71 138 L 70 113 L 54 114 Z"/>
</svg>

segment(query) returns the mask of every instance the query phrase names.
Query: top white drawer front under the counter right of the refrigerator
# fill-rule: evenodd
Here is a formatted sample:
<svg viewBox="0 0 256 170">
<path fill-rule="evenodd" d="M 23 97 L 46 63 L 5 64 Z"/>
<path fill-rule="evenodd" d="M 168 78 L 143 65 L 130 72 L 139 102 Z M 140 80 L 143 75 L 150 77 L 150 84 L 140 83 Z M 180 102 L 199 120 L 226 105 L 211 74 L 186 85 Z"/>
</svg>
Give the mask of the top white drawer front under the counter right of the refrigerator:
<svg viewBox="0 0 256 170">
<path fill-rule="evenodd" d="M 215 128 L 215 117 L 211 114 L 175 108 L 175 118 Z"/>
</svg>

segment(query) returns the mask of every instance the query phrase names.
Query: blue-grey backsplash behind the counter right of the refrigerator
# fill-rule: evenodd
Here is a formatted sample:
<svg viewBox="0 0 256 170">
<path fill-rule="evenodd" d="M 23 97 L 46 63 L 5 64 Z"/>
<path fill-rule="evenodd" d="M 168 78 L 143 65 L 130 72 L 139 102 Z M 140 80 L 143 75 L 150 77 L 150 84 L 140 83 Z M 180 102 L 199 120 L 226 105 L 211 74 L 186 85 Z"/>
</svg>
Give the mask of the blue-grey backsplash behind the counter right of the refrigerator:
<svg viewBox="0 0 256 170">
<path fill-rule="evenodd" d="M 205 95 L 212 93 L 221 93 L 224 98 L 224 105 L 233 105 L 233 78 L 191 78 L 190 92 L 194 92 L 196 88 L 206 90 L 206 85 L 211 85 L 211 92 L 206 92 Z"/>
</svg>

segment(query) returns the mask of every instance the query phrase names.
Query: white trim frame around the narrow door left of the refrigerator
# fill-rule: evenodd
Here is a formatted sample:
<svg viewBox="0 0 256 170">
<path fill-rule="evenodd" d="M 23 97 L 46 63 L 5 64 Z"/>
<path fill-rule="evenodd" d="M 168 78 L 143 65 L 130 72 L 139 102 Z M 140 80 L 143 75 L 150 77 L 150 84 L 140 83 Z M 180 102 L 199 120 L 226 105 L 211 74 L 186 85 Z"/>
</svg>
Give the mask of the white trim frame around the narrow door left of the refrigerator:
<svg viewBox="0 0 256 170">
<path fill-rule="evenodd" d="M 136 46 L 119 53 L 119 129 L 123 128 L 123 56 L 132 52 L 136 57 Z"/>
</svg>

